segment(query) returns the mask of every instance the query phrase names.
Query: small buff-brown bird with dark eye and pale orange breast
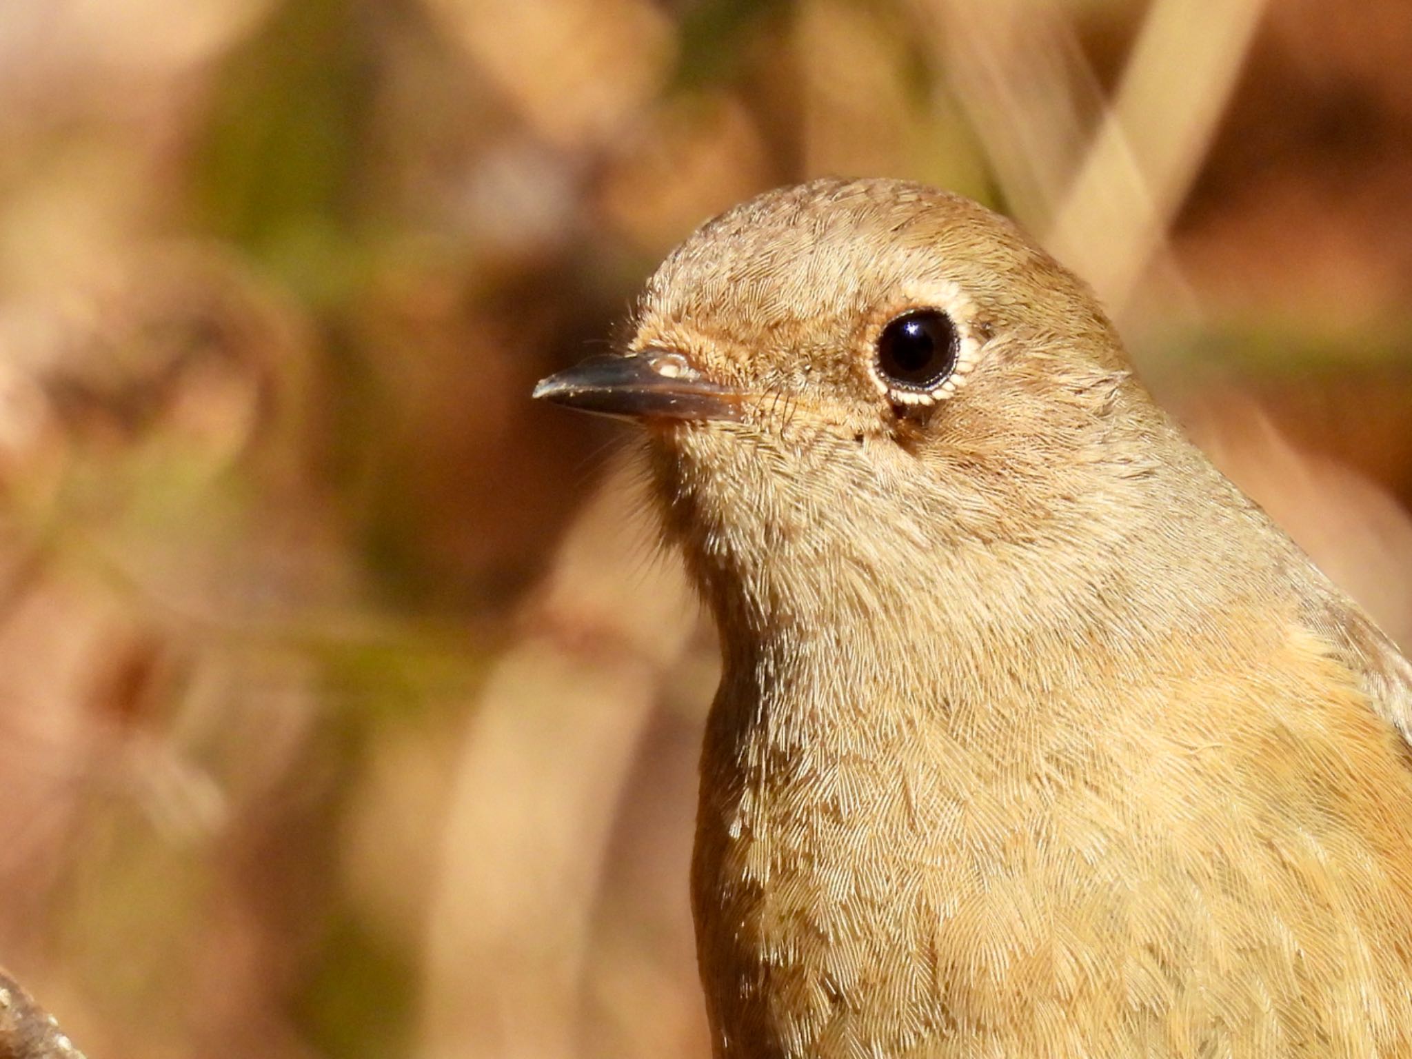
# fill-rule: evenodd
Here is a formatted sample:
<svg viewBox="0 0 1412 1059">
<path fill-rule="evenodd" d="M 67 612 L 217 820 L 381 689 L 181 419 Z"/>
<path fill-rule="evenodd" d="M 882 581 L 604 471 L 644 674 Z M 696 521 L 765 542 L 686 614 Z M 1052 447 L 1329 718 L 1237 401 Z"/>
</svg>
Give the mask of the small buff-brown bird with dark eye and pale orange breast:
<svg viewBox="0 0 1412 1059">
<path fill-rule="evenodd" d="M 717 1059 L 1412 1055 L 1412 664 L 1093 292 L 945 191 L 705 223 L 534 395 L 641 424 L 720 634 Z"/>
</svg>

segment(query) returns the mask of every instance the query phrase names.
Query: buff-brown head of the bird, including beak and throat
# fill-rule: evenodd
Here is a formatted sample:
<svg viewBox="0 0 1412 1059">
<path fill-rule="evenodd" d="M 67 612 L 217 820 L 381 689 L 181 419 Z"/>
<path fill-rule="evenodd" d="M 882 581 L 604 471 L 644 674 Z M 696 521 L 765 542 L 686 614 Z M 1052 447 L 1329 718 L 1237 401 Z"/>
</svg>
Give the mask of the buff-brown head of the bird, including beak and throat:
<svg viewBox="0 0 1412 1059">
<path fill-rule="evenodd" d="M 1080 281 L 1008 220 L 895 181 L 706 223 L 648 281 L 624 354 L 535 393 L 647 424 L 707 594 L 772 614 L 1101 534 L 1161 432 Z"/>
</svg>

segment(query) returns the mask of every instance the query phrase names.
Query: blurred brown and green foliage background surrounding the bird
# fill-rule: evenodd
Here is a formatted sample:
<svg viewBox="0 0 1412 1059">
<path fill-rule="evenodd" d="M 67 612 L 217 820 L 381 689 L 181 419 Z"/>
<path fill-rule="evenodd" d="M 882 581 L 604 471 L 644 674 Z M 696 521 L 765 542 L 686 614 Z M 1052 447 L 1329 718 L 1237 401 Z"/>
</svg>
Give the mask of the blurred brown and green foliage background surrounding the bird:
<svg viewBox="0 0 1412 1059">
<path fill-rule="evenodd" d="M 712 633 L 528 401 L 712 213 L 1018 217 L 1412 644 L 1405 0 L 0 3 L 0 963 L 97 1059 L 706 1056 Z"/>
</svg>

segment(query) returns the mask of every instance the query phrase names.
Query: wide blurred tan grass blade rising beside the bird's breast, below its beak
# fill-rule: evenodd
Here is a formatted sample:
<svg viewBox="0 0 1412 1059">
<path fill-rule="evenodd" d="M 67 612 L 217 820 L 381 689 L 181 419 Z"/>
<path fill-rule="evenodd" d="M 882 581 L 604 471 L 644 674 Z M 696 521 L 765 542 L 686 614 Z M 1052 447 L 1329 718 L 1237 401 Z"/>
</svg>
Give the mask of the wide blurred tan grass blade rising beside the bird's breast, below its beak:
<svg viewBox="0 0 1412 1059">
<path fill-rule="evenodd" d="M 618 467 L 594 491 L 467 726 L 429 916 L 425 1056 L 579 1052 L 607 836 L 698 621 L 675 565 L 626 569 L 633 489 Z"/>
</svg>

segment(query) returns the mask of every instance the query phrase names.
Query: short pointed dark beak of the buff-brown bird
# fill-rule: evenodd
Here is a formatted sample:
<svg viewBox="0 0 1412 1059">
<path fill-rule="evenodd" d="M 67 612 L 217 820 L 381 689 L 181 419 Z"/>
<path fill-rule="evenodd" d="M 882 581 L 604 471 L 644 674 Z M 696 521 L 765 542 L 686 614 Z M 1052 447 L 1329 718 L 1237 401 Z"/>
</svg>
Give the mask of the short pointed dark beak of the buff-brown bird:
<svg viewBox="0 0 1412 1059">
<path fill-rule="evenodd" d="M 681 353 L 589 357 L 541 378 L 534 397 L 627 419 L 738 419 L 744 394 L 706 378 Z"/>
</svg>

